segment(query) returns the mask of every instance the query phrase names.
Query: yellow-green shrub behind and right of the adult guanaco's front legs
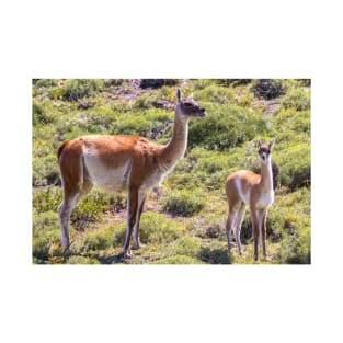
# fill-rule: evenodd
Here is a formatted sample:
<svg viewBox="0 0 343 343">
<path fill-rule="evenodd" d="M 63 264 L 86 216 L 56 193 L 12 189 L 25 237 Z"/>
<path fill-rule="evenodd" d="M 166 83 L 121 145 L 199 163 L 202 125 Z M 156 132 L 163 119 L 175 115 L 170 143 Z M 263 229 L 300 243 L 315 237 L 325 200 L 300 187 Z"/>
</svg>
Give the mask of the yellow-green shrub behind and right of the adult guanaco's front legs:
<svg viewBox="0 0 343 343">
<path fill-rule="evenodd" d="M 169 243 L 181 237 L 183 227 L 175 220 L 157 213 L 144 213 L 140 218 L 139 238 L 144 244 Z M 114 228 L 114 247 L 124 244 L 126 222 Z"/>
</svg>

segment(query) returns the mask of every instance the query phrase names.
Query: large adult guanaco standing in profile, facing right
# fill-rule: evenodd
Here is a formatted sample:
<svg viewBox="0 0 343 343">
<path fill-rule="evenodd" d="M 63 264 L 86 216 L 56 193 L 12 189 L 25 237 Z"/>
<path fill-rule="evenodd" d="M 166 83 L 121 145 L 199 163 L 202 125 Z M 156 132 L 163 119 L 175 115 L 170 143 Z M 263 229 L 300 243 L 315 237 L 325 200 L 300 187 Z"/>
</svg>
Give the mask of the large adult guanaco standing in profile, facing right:
<svg viewBox="0 0 343 343">
<path fill-rule="evenodd" d="M 124 258 L 139 248 L 139 220 L 149 190 L 158 186 L 184 156 L 188 119 L 204 117 L 205 108 L 176 92 L 173 133 L 167 145 L 158 145 L 140 136 L 90 135 L 65 141 L 58 149 L 64 199 L 58 207 L 62 248 L 69 248 L 69 219 L 72 209 L 93 185 L 108 191 L 127 190 L 127 229 Z"/>
</svg>

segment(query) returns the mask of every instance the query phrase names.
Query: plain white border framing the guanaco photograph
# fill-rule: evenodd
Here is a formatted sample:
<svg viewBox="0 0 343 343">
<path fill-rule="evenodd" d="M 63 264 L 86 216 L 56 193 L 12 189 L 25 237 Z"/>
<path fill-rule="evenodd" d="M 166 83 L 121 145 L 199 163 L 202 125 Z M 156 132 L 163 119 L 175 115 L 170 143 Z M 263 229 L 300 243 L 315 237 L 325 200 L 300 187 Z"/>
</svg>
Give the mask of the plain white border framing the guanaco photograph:
<svg viewBox="0 0 343 343">
<path fill-rule="evenodd" d="M 338 1 L 3 3 L 1 341 L 342 340 Z M 42 77 L 311 78 L 312 265 L 32 265 L 31 79 Z"/>
</svg>

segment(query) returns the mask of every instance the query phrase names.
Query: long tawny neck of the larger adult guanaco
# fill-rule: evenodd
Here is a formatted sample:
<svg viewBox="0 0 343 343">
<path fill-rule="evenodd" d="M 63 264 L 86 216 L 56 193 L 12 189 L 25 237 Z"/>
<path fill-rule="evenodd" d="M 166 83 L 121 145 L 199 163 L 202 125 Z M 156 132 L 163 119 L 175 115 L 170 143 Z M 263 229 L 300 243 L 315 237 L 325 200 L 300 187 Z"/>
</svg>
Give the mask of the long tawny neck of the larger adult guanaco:
<svg viewBox="0 0 343 343">
<path fill-rule="evenodd" d="M 180 160 L 186 150 L 188 138 L 188 119 L 181 118 L 178 113 L 174 117 L 173 135 L 161 151 L 161 163 L 168 168 Z"/>
</svg>

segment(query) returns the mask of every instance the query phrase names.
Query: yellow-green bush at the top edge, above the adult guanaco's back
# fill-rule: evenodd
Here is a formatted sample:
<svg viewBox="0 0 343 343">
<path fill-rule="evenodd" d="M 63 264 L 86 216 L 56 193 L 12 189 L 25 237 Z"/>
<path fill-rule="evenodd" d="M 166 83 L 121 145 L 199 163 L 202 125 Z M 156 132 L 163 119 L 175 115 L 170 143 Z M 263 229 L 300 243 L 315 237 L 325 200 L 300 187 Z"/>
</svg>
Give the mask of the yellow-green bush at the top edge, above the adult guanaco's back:
<svg viewBox="0 0 343 343">
<path fill-rule="evenodd" d="M 104 81 L 100 79 L 77 79 L 68 80 L 65 84 L 64 100 L 78 101 L 81 98 L 90 96 L 93 92 L 103 88 Z"/>
</svg>

